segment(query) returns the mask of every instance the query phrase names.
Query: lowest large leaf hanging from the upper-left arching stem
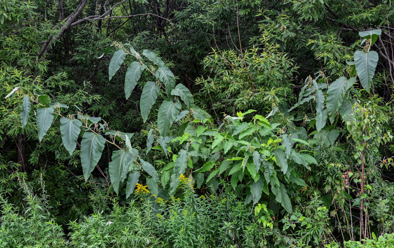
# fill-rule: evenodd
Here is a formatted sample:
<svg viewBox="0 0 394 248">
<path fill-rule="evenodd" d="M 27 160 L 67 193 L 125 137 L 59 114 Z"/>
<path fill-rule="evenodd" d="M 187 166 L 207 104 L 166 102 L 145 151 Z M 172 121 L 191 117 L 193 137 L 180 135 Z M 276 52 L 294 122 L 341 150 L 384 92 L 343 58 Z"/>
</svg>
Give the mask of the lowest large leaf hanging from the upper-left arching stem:
<svg viewBox="0 0 394 248">
<path fill-rule="evenodd" d="M 180 103 L 165 99 L 159 108 L 157 123 L 160 135 L 166 137 L 170 134 L 170 127 L 177 118 Z"/>
</svg>

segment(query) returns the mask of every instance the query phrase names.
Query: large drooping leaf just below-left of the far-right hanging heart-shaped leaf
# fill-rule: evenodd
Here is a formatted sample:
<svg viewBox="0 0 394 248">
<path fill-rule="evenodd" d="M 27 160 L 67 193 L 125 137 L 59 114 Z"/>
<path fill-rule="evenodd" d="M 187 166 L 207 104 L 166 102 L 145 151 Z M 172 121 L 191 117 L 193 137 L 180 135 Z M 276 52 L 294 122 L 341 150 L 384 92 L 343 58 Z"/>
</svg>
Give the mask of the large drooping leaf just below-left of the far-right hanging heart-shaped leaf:
<svg viewBox="0 0 394 248">
<path fill-rule="evenodd" d="M 330 84 L 327 90 L 327 109 L 336 112 L 342 104 L 343 95 L 356 82 L 356 78 L 340 77 Z"/>
</svg>

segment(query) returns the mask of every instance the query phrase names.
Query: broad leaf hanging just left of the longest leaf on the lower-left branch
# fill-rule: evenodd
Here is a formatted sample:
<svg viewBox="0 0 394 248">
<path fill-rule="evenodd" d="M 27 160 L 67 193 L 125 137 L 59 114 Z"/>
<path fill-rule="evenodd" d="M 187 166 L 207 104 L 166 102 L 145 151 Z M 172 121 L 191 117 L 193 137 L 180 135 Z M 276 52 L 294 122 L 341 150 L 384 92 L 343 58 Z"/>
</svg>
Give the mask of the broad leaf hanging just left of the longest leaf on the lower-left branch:
<svg viewBox="0 0 394 248">
<path fill-rule="evenodd" d="M 60 118 L 60 133 L 64 147 L 69 151 L 70 155 L 76 147 L 76 140 L 81 131 L 82 122 L 77 119 Z"/>
</svg>

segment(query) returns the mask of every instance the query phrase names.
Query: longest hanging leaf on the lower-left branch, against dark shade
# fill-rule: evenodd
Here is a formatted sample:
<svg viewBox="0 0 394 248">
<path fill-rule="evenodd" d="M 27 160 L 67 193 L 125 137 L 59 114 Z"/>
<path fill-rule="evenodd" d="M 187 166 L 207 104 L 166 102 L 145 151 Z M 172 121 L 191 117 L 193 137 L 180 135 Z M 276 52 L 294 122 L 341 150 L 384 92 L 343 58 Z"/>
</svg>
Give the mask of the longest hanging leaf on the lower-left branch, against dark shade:
<svg viewBox="0 0 394 248">
<path fill-rule="evenodd" d="M 105 139 L 99 134 L 85 132 L 81 141 L 81 164 L 85 181 L 99 162 Z"/>
</svg>

